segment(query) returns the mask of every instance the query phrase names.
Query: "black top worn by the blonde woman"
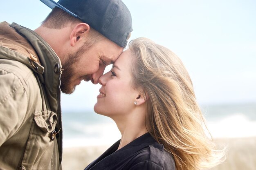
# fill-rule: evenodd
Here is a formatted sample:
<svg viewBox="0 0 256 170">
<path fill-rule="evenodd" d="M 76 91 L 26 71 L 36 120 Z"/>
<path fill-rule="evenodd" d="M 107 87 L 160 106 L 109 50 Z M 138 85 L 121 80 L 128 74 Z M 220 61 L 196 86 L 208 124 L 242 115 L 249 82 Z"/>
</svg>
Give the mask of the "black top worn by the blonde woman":
<svg viewBox="0 0 256 170">
<path fill-rule="evenodd" d="M 171 153 L 146 133 L 117 150 L 120 140 L 113 144 L 85 170 L 175 170 Z"/>
</svg>

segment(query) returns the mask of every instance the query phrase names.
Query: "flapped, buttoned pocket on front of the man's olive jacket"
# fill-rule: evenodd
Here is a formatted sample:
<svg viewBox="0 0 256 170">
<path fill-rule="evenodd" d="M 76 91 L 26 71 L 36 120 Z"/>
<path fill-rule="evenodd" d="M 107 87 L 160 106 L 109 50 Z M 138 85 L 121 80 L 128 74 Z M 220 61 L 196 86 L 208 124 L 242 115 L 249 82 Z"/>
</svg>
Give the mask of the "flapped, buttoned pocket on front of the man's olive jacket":
<svg viewBox="0 0 256 170">
<path fill-rule="evenodd" d="M 57 123 L 57 115 L 52 111 L 34 114 L 29 139 L 22 159 L 26 170 L 51 170 L 51 159 L 54 152 L 52 132 Z M 56 158 L 58 159 L 58 158 Z"/>
</svg>

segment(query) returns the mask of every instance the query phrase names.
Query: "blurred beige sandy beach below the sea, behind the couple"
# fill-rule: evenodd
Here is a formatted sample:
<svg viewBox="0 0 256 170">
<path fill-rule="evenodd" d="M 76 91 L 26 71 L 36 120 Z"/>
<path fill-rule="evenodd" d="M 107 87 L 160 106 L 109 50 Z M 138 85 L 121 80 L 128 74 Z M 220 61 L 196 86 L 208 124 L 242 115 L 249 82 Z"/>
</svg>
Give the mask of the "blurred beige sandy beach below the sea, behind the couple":
<svg viewBox="0 0 256 170">
<path fill-rule="evenodd" d="M 214 139 L 227 146 L 227 159 L 211 170 L 256 170 L 256 137 Z M 83 170 L 110 146 L 63 148 L 63 170 Z"/>
</svg>

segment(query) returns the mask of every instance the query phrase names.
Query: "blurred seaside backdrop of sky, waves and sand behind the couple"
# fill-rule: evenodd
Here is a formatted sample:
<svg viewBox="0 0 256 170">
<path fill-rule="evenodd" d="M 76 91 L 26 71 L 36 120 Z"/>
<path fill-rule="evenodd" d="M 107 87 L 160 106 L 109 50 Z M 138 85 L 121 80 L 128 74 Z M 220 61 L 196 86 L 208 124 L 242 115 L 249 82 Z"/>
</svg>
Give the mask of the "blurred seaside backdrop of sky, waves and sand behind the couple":
<svg viewBox="0 0 256 170">
<path fill-rule="evenodd" d="M 51 11 L 39 0 L 0 2 L 0 22 L 32 30 Z M 130 40 L 146 37 L 166 46 L 189 71 L 213 140 L 228 148 L 215 169 L 256 170 L 256 1 L 123 2 L 132 15 Z M 114 121 L 93 111 L 99 88 L 82 82 L 72 95 L 62 94 L 64 170 L 84 168 L 121 137 Z M 75 148 L 83 152 L 74 155 Z"/>
</svg>

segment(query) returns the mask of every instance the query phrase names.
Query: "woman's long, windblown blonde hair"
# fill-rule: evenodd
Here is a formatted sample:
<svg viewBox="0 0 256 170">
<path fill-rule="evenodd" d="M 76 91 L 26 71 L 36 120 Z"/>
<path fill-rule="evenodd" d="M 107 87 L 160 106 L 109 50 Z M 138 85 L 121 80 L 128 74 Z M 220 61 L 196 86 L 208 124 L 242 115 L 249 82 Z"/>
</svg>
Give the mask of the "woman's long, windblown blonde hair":
<svg viewBox="0 0 256 170">
<path fill-rule="evenodd" d="M 171 152 L 176 170 L 211 168 L 223 151 L 214 150 L 204 117 L 195 98 L 189 73 L 179 57 L 147 38 L 129 43 L 132 84 L 143 89 L 146 128 Z"/>
</svg>

